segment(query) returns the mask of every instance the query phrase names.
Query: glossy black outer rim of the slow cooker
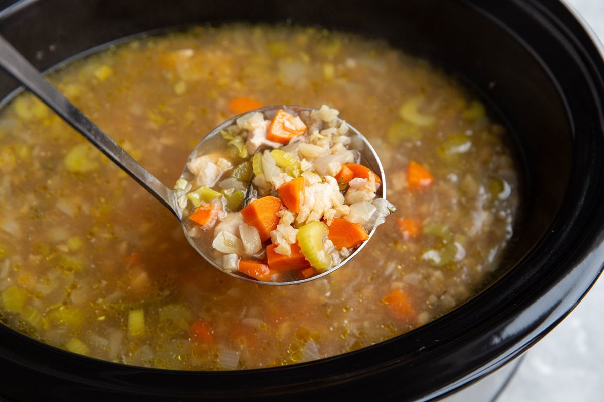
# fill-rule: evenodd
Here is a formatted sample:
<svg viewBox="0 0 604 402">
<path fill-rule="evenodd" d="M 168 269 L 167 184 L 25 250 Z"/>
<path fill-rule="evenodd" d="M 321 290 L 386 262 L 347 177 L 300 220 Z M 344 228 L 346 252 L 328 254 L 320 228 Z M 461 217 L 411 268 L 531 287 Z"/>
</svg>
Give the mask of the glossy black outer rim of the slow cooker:
<svg viewBox="0 0 604 402">
<path fill-rule="evenodd" d="M 506 22 L 489 15 L 497 5 L 480 4 L 480 0 L 464 2 L 475 9 L 483 7 L 478 11 L 506 27 Z M 587 113 L 571 110 L 579 91 L 568 95 L 559 90 L 573 133 L 586 131 L 593 135 L 574 135 L 571 181 L 550 230 L 519 263 L 480 294 L 441 318 L 388 341 L 278 368 L 191 372 L 127 366 L 42 344 L 5 325 L 0 325 L 0 356 L 49 377 L 106 392 L 153 397 L 234 398 L 244 394 L 251 398 L 327 390 L 340 396 L 350 392 L 360 396 L 389 384 L 385 389 L 405 386 L 409 388 L 403 391 L 405 397 L 426 400 L 467 385 L 524 352 L 576 306 L 602 270 L 604 207 L 599 199 L 604 189 L 604 64 L 594 45 L 596 39 L 564 5 L 550 0 L 513 2 L 540 24 L 546 24 L 573 53 L 599 119 L 593 119 L 594 115 L 591 119 L 579 118 Z M 526 42 L 525 46 L 531 48 Z M 531 50 L 541 61 L 538 52 Z M 541 64 L 551 80 L 564 87 L 561 77 Z M 576 180 L 586 172 L 590 180 Z M 534 266 L 539 269 L 532 269 Z M 353 381 L 356 383 L 351 387 Z M 448 386 L 434 386 L 439 384 Z M 435 388 L 439 391 L 431 391 Z"/>
</svg>

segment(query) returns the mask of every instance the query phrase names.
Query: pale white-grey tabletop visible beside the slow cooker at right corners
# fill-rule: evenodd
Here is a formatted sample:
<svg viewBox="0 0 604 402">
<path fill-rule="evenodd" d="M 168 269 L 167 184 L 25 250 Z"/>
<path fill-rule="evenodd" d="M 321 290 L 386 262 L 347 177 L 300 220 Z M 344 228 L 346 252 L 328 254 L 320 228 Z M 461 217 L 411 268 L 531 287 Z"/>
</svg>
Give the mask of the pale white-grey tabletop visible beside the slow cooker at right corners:
<svg viewBox="0 0 604 402">
<path fill-rule="evenodd" d="M 604 0 L 568 0 L 604 42 Z M 604 201 L 604 200 L 603 200 Z M 604 401 L 604 278 L 525 355 L 497 402 Z"/>
</svg>

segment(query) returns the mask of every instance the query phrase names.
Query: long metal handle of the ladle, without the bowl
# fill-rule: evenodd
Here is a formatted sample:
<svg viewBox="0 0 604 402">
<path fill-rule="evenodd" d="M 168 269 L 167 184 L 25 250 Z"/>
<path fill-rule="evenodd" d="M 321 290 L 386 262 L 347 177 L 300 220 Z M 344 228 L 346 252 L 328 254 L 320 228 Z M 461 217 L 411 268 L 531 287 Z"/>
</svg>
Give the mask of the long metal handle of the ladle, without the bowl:
<svg viewBox="0 0 604 402">
<path fill-rule="evenodd" d="M 38 98 L 52 108 L 66 122 L 72 125 L 80 134 L 94 146 L 107 155 L 115 165 L 120 166 L 141 186 L 151 193 L 158 201 L 178 218 L 179 209 L 172 190 L 166 187 L 155 176 L 143 168 L 128 152 L 124 151 L 114 140 L 95 125 L 69 99 L 65 98 L 53 87 L 25 57 L 13 48 L 4 37 L 0 36 L 0 67 L 5 69 L 21 84 L 27 87 Z"/>
</svg>

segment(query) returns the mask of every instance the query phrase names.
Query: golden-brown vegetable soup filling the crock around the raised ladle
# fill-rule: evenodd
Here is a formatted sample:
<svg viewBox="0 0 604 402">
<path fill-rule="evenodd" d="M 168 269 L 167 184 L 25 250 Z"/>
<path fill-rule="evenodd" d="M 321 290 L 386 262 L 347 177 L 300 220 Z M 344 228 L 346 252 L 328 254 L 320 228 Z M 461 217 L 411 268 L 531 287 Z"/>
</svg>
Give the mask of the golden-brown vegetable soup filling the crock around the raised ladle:
<svg viewBox="0 0 604 402">
<path fill-rule="evenodd" d="M 196 143 L 239 113 L 235 98 L 338 108 L 376 148 L 397 208 L 327 277 L 238 280 L 208 265 L 168 210 L 45 105 L 19 95 L 0 118 L 0 319 L 74 353 L 188 370 L 345 353 L 463 303 L 492 280 L 512 236 L 509 134 L 453 80 L 385 43 L 200 27 L 114 46 L 50 80 L 169 185 Z"/>
</svg>

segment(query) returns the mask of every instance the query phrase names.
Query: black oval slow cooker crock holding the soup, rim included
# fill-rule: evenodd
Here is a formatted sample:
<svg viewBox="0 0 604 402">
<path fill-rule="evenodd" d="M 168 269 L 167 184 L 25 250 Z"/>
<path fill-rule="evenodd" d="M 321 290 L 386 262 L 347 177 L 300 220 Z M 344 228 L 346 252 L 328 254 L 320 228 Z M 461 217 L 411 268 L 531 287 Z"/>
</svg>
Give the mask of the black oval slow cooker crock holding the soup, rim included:
<svg viewBox="0 0 604 402">
<path fill-rule="evenodd" d="M 506 274 L 410 333 L 281 368 L 123 366 L 57 350 L 0 325 L 0 397 L 431 400 L 518 357 L 596 281 L 604 261 L 604 65 L 597 45 L 560 2 L 26 0 L 0 13 L 0 33 L 44 70 L 143 31 L 231 20 L 382 37 L 481 93 L 516 134 L 526 173 L 524 215 L 504 261 Z M 0 74 L 0 97 L 16 87 Z"/>
</svg>

